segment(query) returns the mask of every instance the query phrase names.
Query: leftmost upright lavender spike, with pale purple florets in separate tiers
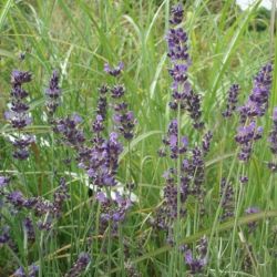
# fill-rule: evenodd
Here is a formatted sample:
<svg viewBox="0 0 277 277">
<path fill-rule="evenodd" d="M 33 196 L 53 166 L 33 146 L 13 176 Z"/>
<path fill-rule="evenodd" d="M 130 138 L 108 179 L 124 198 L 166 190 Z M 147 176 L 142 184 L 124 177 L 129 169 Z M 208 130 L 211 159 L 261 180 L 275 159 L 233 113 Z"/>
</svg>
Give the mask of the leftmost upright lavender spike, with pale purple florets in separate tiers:
<svg viewBox="0 0 277 277">
<path fill-rule="evenodd" d="M 24 101 L 29 94 L 22 88 L 22 84 L 30 82 L 31 79 L 30 72 L 13 70 L 11 73 L 10 111 L 7 111 L 4 115 L 12 127 L 17 130 L 12 141 L 13 157 L 17 160 L 27 160 L 29 157 L 28 147 L 34 142 L 33 136 L 22 133 L 22 130 L 32 122 L 29 115 L 29 105 Z"/>
</svg>

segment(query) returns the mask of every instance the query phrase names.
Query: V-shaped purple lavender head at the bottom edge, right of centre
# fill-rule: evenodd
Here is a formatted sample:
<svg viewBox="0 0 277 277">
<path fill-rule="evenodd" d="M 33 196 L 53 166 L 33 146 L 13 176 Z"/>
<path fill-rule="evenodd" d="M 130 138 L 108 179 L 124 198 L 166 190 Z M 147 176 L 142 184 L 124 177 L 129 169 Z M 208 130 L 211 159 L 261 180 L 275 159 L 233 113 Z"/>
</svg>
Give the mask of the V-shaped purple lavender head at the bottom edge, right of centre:
<svg viewBox="0 0 277 277">
<path fill-rule="evenodd" d="M 184 252 L 184 260 L 188 266 L 191 274 L 199 274 L 207 264 L 207 238 L 204 236 L 197 247 L 197 257 L 193 257 L 193 252 L 186 245 L 182 247 Z"/>
</svg>

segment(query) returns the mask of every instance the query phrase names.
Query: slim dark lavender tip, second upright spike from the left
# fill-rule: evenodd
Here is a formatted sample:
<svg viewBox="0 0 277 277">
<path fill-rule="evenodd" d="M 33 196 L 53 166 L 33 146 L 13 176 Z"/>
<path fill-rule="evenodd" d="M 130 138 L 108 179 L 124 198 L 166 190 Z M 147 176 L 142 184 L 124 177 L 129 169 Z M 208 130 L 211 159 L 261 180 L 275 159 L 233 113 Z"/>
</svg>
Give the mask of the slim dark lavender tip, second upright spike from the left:
<svg viewBox="0 0 277 277">
<path fill-rule="evenodd" d="M 49 88 L 45 90 L 47 95 L 47 109 L 50 116 L 53 116 L 57 107 L 60 105 L 61 89 L 59 86 L 59 73 L 53 71 L 49 81 Z"/>
</svg>

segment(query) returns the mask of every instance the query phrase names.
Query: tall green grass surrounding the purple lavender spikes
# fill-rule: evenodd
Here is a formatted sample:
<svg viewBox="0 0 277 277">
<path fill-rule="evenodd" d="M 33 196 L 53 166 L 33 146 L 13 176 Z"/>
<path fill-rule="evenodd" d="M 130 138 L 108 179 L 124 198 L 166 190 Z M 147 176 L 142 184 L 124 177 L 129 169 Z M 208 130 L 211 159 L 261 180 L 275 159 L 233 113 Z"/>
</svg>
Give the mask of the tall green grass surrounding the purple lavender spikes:
<svg viewBox="0 0 277 277">
<path fill-rule="evenodd" d="M 207 236 L 208 264 L 198 276 L 274 277 L 277 274 L 277 189 L 276 176 L 268 171 L 266 162 L 271 161 L 267 134 L 271 127 L 273 107 L 277 105 L 276 73 L 268 112 L 259 120 L 265 134 L 255 144 L 252 160 L 245 165 L 238 163 L 235 155 L 238 116 L 228 122 L 220 113 L 232 83 L 242 86 L 242 104 L 260 66 L 269 59 L 276 64 L 276 38 L 270 39 L 270 22 L 263 32 L 248 30 L 258 2 L 244 12 L 236 10 L 232 0 L 223 1 L 219 11 L 212 9 L 212 2 L 191 1 L 185 6 L 182 23 L 189 37 L 193 61 L 189 80 L 202 95 L 206 130 L 212 130 L 214 137 L 205 157 L 205 214 L 199 216 L 196 201 L 189 198 L 187 215 L 177 227 L 182 236 L 179 244 L 188 244 L 195 249 L 197 240 Z M 38 230 L 31 245 L 24 240 L 23 215 L 14 216 L 2 208 L 19 252 L 7 246 L 0 248 L 0 276 L 10 276 L 19 266 L 27 268 L 32 263 L 40 265 L 40 276 L 63 276 L 81 252 L 92 256 L 84 276 L 131 276 L 127 263 L 142 276 L 189 276 L 176 247 L 168 246 L 165 234 L 148 224 L 161 205 L 162 175 L 171 163 L 160 158 L 157 150 L 173 117 L 168 109 L 170 61 L 164 40 L 172 4 L 170 0 L 0 2 L 0 172 L 12 176 L 10 189 L 50 199 L 59 178 L 65 176 L 71 195 L 54 229 L 51 233 Z M 274 54 L 270 57 L 271 48 Z M 21 52 L 25 52 L 24 61 L 18 59 Z M 129 212 L 119 238 L 111 239 L 109 228 L 105 236 L 98 233 L 99 207 L 88 197 L 84 172 L 74 162 L 70 167 L 62 163 L 72 157 L 74 151 L 57 143 L 57 135 L 43 119 L 44 89 L 52 70 L 58 69 L 62 105 L 57 116 L 79 113 L 90 136 L 98 88 L 113 82 L 103 72 L 103 64 L 106 61 L 116 64 L 120 60 L 125 64 L 122 76 L 125 99 L 134 111 L 137 125 L 135 138 L 121 154 L 119 181 L 135 183 L 138 202 Z M 9 102 L 13 69 L 33 73 L 32 82 L 25 88 L 30 92 L 33 116 L 28 131 L 35 134 L 37 142 L 31 147 L 30 158 L 21 163 L 12 158 L 7 136 L 13 131 L 2 116 Z M 194 131 L 187 114 L 182 114 L 181 119 L 182 132 L 187 135 L 189 145 L 201 144 L 202 134 Z M 112 127 L 112 121 L 109 126 Z M 43 145 L 43 141 L 50 146 Z M 239 187 L 242 173 L 249 177 L 245 187 Z M 219 222 L 222 177 L 232 181 L 237 196 L 235 216 L 226 223 Z M 258 206 L 261 212 L 246 216 L 244 211 L 249 206 Z M 257 229 L 248 234 L 247 223 L 254 219 Z M 250 258 L 249 268 L 244 267 L 247 258 Z"/>
</svg>

